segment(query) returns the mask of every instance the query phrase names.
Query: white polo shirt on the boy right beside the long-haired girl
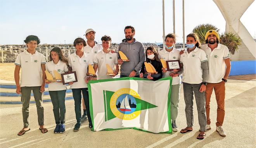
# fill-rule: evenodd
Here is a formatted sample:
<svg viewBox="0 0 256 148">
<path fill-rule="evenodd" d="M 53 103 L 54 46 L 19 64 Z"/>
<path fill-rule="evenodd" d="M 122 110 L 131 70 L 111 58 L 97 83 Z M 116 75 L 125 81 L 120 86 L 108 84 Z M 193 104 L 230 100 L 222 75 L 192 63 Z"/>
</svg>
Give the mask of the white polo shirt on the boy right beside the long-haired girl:
<svg viewBox="0 0 256 148">
<path fill-rule="evenodd" d="M 68 65 L 72 67 L 72 71 L 76 71 L 76 77 L 78 80 L 78 82 L 74 82 L 70 88 L 87 88 L 87 84 L 85 83 L 87 67 L 89 64 L 93 64 L 89 54 L 84 51 L 83 56 L 80 58 L 76 55 L 76 52 L 74 52 L 73 54 L 70 54 L 67 59 Z"/>
</svg>

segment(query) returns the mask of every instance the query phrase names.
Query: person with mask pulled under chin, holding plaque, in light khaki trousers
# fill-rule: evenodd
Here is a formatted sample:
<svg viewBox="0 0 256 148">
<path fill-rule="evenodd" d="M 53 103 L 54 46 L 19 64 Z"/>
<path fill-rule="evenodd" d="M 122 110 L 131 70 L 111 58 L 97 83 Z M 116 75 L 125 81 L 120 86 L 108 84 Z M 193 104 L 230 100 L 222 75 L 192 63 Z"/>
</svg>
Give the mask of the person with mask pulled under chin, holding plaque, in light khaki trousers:
<svg viewBox="0 0 256 148">
<path fill-rule="evenodd" d="M 168 34 L 165 37 L 165 47 L 163 50 L 159 51 L 159 58 L 165 61 L 168 60 L 180 60 L 180 51 L 175 49 L 173 45 L 176 41 L 175 34 Z M 173 131 L 178 131 L 178 126 L 176 125 L 176 118 L 178 116 L 178 107 L 180 101 L 180 85 L 183 68 L 180 71 L 176 69 L 174 71 L 163 70 L 163 78 L 173 77 L 172 86 L 171 86 L 171 125 Z"/>
</svg>

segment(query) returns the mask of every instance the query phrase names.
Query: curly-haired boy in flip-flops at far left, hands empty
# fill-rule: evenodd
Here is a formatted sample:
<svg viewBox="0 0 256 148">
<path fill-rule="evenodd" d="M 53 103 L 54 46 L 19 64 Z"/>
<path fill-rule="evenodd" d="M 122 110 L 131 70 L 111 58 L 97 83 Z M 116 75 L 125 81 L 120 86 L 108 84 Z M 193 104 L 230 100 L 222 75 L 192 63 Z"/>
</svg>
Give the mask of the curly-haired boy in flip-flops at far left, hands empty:
<svg viewBox="0 0 256 148">
<path fill-rule="evenodd" d="M 22 102 L 22 116 L 23 128 L 18 133 L 21 136 L 29 131 L 29 102 L 31 97 L 31 90 L 33 91 L 34 99 L 36 102 L 36 109 L 38 115 L 38 124 L 42 133 L 47 133 L 44 126 L 43 117 L 43 101 L 42 95 L 45 91 L 45 56 L 36 51 L 40 39 L 37 36 L 30 35 L 24 40 L 28 49 L 18 54 L 15 61 L 14 79 L 16 83 L 16 93 L 21 94 Z M 22 67 L 22 68 L 21 68 Z M 21 83 L 19 82 L 19 71 L 21 69 Z M 42 72 L 43 71 L 43 72 Z"/>
</svg>

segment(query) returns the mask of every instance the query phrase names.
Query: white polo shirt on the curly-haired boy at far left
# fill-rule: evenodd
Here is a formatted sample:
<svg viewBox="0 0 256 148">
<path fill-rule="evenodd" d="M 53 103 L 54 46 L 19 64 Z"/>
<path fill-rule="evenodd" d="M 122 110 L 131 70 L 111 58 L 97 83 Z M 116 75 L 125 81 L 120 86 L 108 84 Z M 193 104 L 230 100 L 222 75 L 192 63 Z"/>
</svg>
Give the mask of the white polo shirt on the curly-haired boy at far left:
<svg viewBox="0 0 256 148">
<path fill-rule="evenodd" d="M 32 87 L 42 85 L 41 64 L 46 64 L 45 56 L 42 53 L 29 53 L 25 50 L 19 53 L 15 65 L 21 66 L 21 87 Z"/>
</svg>

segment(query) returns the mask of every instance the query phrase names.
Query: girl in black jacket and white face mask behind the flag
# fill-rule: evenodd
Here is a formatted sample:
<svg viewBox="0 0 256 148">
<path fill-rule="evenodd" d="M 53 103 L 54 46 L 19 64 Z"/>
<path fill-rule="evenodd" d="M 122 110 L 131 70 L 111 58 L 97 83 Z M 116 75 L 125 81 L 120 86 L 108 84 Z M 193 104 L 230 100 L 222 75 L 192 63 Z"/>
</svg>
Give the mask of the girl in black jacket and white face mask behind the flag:
<svg viewBox="0 0 256 148">
<path fill-rule="evenodd" d="M 145 62 L 151 63 L 154 66 L 154 68 L 156 69 L 156 71 L 161 74 L 161 76 L 157 77 L 157 78 L 153 78 L 149 74 L 147 76 L 148 79 L 156 81 L 156 80 L 162 78 L 162 64 L 160 62 L 160 59 L 158 58 L 156 49 L 154 47 L 150 46 L 150 47 L 147 48 L 147 50 L 146 50 L 146 61 Z M 145 72 L 147 72 L 147 71 L 146 71 L 146 68 L 145 68 L 145 64 L 143 63 L 141 71 L 140 71 L 140 78 L 143 78 L 143 74 Z"/>
</svg>

